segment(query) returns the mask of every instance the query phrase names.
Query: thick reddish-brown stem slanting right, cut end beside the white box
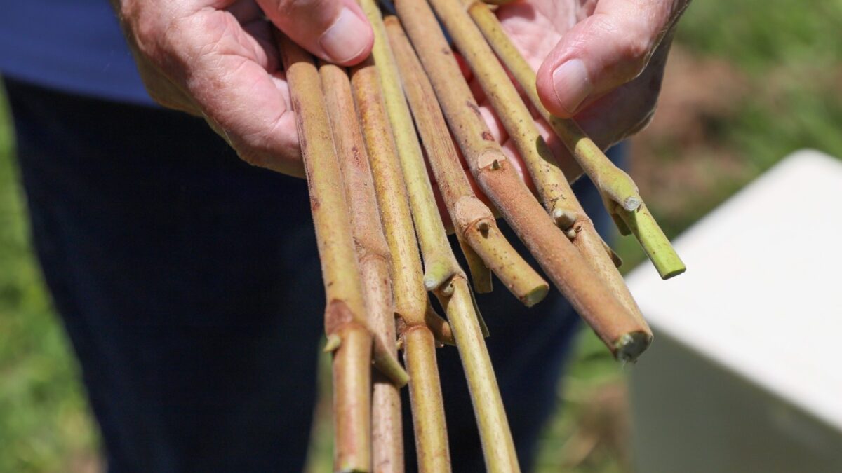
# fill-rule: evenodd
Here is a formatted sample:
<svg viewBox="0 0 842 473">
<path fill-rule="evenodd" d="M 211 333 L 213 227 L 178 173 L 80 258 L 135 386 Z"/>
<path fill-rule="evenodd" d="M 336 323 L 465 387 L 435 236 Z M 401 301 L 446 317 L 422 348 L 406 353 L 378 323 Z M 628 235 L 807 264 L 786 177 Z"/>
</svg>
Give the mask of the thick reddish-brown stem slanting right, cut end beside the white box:
<svg viewBox="0 0 842 473">
<path fill-rule="evenodd" d="M 450 45 L 423 0 L 397 2 L 408 36 L 439 98 L 450 130 L 482 190 L 553 284 L 621 359 L 638 353 L 645 332 L 526 189 L 478 113 Z"/>
</svg>

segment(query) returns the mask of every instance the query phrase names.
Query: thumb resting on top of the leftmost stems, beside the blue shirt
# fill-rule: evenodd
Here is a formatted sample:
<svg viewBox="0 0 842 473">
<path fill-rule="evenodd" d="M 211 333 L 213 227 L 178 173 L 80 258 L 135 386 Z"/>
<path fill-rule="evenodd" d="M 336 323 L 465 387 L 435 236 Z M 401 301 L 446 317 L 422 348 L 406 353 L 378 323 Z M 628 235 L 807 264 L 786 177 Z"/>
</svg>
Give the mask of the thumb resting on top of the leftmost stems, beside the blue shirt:
<svg viewBox="0 0 842 473">
<path fill-rule="evenodd" d="M 374 33 L 354 0 L 258 0 L 291 40 L 326 61 L 352 66 L 367 57 Z"/>
</svg>

